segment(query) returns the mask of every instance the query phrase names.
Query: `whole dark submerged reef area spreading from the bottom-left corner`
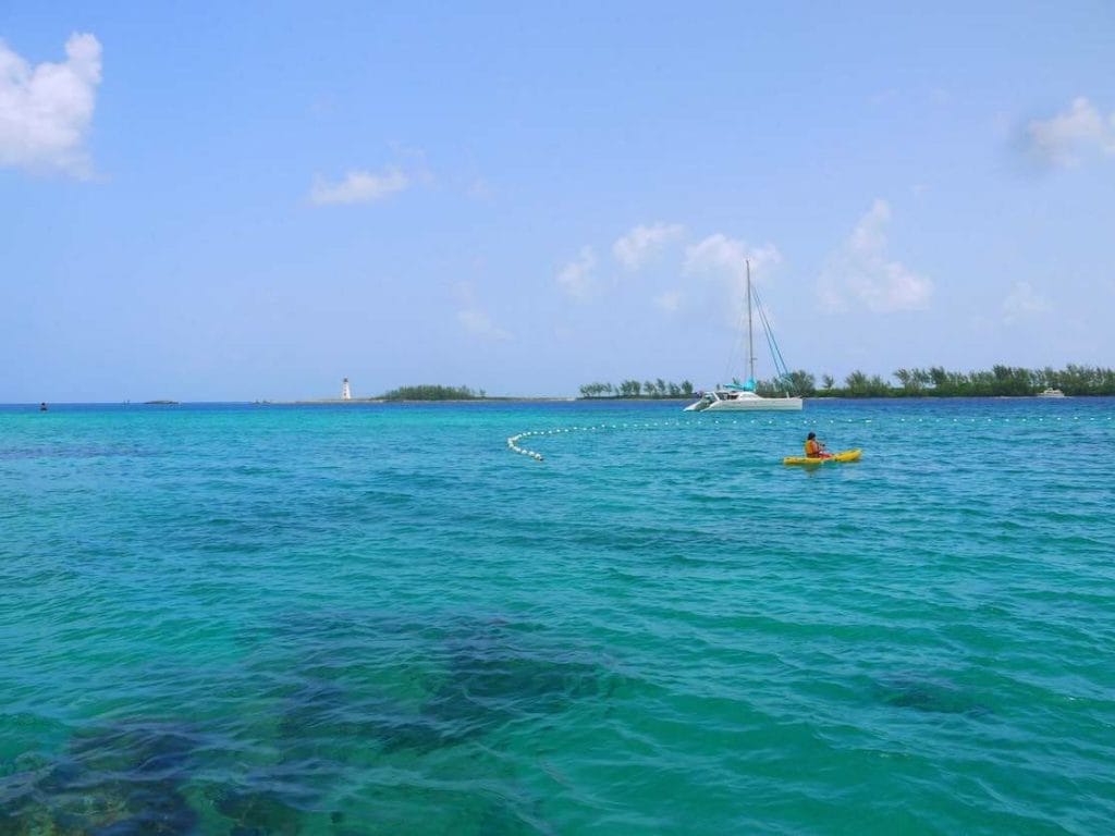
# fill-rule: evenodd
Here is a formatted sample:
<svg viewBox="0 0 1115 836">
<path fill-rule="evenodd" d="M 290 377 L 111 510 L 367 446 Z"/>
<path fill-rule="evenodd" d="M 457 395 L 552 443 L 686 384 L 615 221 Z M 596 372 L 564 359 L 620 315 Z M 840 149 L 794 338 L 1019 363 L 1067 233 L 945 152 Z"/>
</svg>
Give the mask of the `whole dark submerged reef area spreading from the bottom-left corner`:
<svg viewBox="0 0 1115 836">
<path fill-rule="evenodd" d="M 270 710 L 78 730 L 54 758 L 8 765 L 0 834 L 398 833 L 432 805 L 455 833 L 549 833 L 540 799 L 488 788 L 504 767 L 485 738 L 578 701 L 603 711 L 618 681 L 592 654 L 501 619 L 328 613 L 251 643 L 243 675 L 214 687 Z M 331 804 L 352 769 L 370 781 L 341 795 L 387 799 L 382 820 Z"/>
</svg>

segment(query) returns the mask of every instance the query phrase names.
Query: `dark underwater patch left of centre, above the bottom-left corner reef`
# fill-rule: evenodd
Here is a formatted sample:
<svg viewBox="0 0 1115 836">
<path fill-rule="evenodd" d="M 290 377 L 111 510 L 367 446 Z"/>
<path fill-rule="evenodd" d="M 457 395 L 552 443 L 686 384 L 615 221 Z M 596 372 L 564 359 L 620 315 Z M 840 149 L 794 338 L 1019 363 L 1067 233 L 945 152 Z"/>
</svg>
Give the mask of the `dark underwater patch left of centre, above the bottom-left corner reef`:
<svg viewBox="0 0 1115 836">
<path fill-rule="evenodd" d="M 278 730 L 298 757 L 314 739 L 428 754 L 512 720 L 607 699 L 615 684 L 591 654 L 529 622 L 332 613 L 295 619 L 280 632 L 292 664 L 277 693 Z M 261 670 L 277 661 L 261 659 Z"/>
</svg>

